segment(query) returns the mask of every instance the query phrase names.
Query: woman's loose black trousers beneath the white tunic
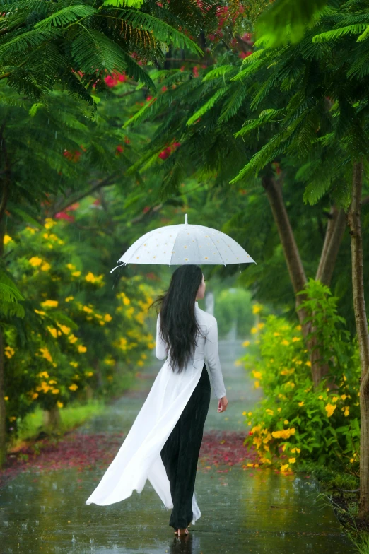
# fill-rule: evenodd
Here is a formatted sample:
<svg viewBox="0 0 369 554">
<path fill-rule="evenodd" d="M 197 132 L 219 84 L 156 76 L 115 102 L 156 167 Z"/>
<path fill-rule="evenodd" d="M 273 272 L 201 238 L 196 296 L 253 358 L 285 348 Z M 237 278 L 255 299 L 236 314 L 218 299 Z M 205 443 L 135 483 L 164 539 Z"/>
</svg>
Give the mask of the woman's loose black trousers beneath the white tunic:
<svg viewBox="0 0 369 554">
<path fill-rule="evenodd" d="M 169 525 L 174 529 L 185 529 L 193 518 L 192 495 L 210 392 L 204 364 L 199 382 L 160 452 L 170 482 L 173 509 Z"/>
</svg>

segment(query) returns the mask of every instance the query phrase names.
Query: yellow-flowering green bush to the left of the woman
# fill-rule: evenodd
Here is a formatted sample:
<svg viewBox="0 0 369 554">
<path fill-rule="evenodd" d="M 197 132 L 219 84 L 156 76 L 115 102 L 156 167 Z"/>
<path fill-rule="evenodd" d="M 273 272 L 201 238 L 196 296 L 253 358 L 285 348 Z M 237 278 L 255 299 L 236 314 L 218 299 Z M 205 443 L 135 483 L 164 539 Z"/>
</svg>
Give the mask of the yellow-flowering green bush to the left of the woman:
<svg viewBox="0 0 369 554">
<path fill-rule="evenodd" d="M 122 374 L 139 370 L 155 346 L 145 329 L 151 288 L 137 276 L 112 290 L 95 264 L 85 269 L 86 245 L 65 240 L 68 225 L 48 218 L 4 240 L 26 297 L 22 326 L 4 333 L 8 431 L 36 406 L 63 408 L 93 390 L 116 394 Z"/>
</svg>

